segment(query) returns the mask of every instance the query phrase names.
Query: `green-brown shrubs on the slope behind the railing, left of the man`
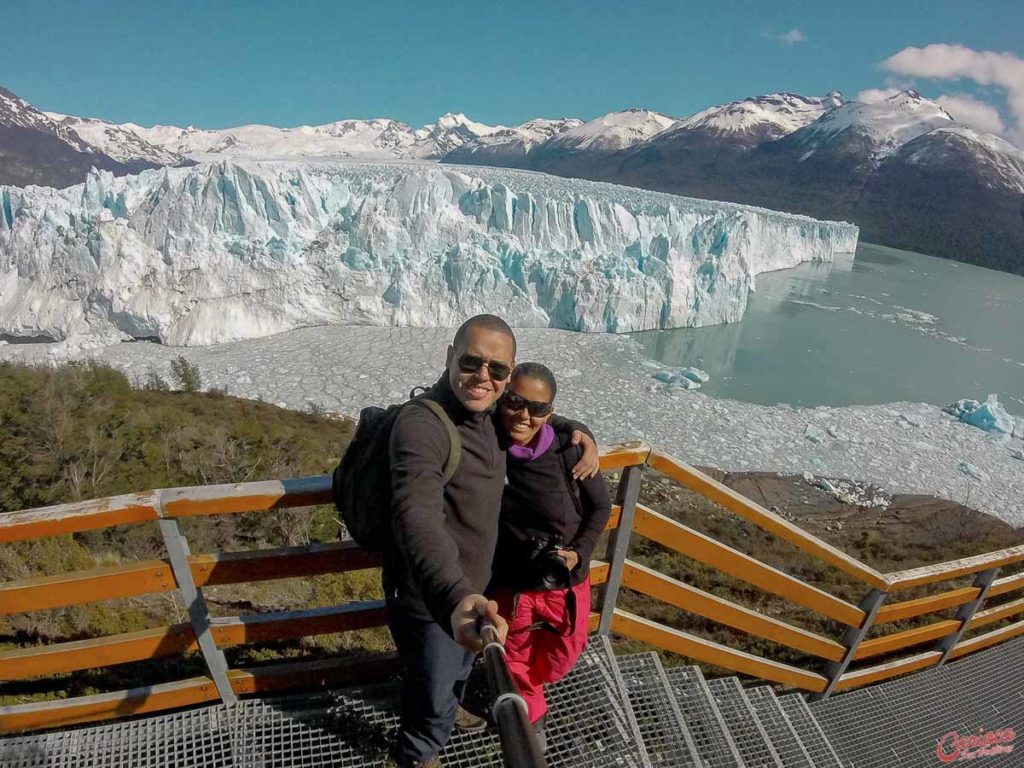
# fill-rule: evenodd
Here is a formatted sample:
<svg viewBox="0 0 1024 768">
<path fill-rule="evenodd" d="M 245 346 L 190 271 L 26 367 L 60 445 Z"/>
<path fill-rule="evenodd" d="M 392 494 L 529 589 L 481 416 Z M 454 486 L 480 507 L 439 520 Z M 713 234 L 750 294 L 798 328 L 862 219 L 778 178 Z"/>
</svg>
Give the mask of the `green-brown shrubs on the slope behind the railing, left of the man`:
<svg viewBox="0 0 1024 768">
<path fill-rule="evenodd" d="M 174 378 L 182 390 L 196 390 L 202 383 L 199 370 L 183 358 Z M 155 373 L 136 389 L 120 372 L 95 362 L 58 368 L 0 364 L 0 514 L 159 487 L 322 474 L 337 463 L 351 433 L 351 423 L 319 414 L 217 392 L 167 389 Z M 317 507 L 219 515 L 185 520 L 183 528 L 195 553 L 268 549 L 336 541 L 336 514 L 333 508 Z M 51 537 L 0 545 L 0 581 L 164 556 L 155 524 Z M 231 615 L 372 599 L 378 596 L 377 585 L 373 572 L 356 572 L 214 587 L 206 593 L 215 615 Z M 12 614 L 0 616 L 0 648 L 184 621 L 184 608 L 171 593 Z M 380 632 L 358 637 L 292 643 L 289 650 L 240 649 L 237 655 L 263 660 L 292 655 L 303 645 L 312 654 L 385 645 Z M 5 683 L 0 703 L 116 690 L 190 674 L 203 674 L 201 660 L 123 665 Z"/>
</svg>

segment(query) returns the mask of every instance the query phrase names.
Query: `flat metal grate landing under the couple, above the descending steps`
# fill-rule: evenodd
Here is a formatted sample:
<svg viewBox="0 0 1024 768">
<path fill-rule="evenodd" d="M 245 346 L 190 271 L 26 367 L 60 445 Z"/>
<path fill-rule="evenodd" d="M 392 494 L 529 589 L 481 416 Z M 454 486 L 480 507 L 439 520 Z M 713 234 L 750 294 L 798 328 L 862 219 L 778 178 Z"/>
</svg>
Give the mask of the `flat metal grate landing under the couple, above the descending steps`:
<svg viewBox="0 0 1024 768">
<path fill-rule="evenodd" d="M 0 768 L 384 768 L 398 687 L 244 698 L 55 733 L 0 738 Z M 650 768 L 606 638 L 549 688 L 551 768 Z M 498 731 L 452 735 L 441 762 L 501 768 Z"/>
</svg>

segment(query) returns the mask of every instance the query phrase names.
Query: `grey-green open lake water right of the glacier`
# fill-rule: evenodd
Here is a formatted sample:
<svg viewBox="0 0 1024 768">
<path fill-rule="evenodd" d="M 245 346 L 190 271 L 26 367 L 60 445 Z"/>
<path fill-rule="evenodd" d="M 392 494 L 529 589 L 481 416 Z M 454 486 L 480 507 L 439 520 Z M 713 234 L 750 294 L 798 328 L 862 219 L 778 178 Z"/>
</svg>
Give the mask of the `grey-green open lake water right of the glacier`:
<svg viewBox="0 0 1024 768">
<path fill-rule="evenodd" d="M 742 321 L 631 334 L 762 404 L 945 406 L 990 392 L 1024 414 L 1024 278 L 861 244 L 855 258 L 762 274 Z"/>
</svg>

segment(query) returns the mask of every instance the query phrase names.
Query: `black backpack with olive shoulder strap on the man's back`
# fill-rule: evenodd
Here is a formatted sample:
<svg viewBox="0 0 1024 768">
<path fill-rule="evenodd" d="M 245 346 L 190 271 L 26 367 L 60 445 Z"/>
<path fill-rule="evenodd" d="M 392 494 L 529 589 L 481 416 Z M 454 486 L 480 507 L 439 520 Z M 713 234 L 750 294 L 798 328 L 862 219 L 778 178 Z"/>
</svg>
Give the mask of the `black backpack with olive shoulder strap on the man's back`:
<svg viewBox="0 0 1024 768">
<path fill-rule="evenodd" d="M 415 392 L 415 390 L 414 390 Z M 371 406 L 359 412 L 355 435 L 334 470 L 331 492 L 348 535 L 362 549 L 380 550 L 390 541 L 391 467 L 388 443 L 395 419 L 403 408 L 426 408 L 444 425 L 449 435 L 449 457 L 442 481 L 449 481 L 462 460 L 459 430 L 444 409 L 425 395 L 387 409 Z"/>
</svg>

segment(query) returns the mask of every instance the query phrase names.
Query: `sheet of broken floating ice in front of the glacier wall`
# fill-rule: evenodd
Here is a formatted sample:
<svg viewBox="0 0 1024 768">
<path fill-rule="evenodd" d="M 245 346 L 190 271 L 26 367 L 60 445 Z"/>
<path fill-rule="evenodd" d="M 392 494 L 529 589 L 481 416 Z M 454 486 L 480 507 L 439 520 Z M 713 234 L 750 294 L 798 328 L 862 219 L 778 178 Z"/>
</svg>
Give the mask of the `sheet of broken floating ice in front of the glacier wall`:
<svg viewBox="0 0 1024 768">
<path fill-rule="evenodd" d="M 116 344 L 75 356 L 105 360 L 144 381 L 151 369 L 167 378 L 170 360 L 184 355 L 208 386 L 231 394 L 354 414 L 433 381 L 452 333 L 310 328 L 210 347 Z M 604 442 L 644 438 L 691 464 L 728 471 L 806 471 L 887 493 L 969 500 L 976 509 L 1024 524 L 1020 438 L 994 441 L 937 407 L 799 409 L 717 399 L 652 379 L 643 348 L 627 337 L 540 329 L 518 330 L 517 336 L 519 359 L 543 360 L 559 377 L 559 411 L 584 419 Z M 0 351 L 0 358 L 30 361 L 62 356 L 57 345 L 11 344 Z M 807 438 L 809 426 L 819 441 Z M 965 474 L 963 464 L 977 476 Z"/>
</svg>

